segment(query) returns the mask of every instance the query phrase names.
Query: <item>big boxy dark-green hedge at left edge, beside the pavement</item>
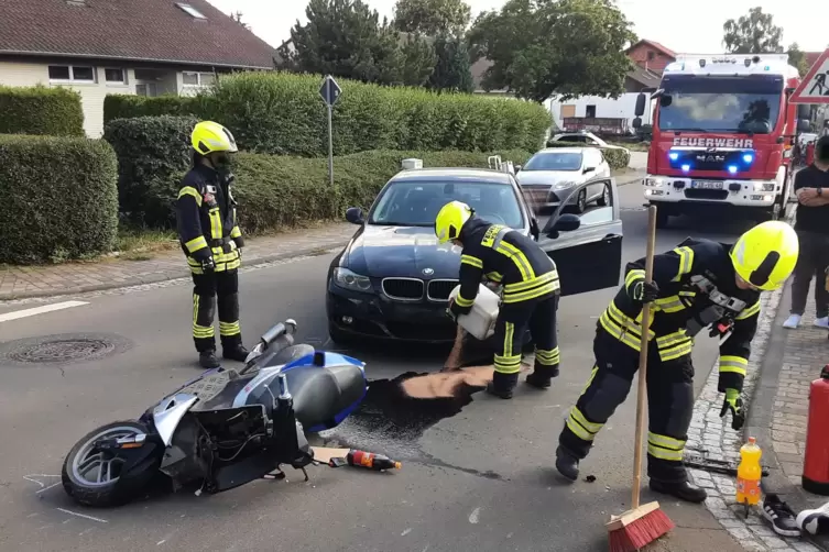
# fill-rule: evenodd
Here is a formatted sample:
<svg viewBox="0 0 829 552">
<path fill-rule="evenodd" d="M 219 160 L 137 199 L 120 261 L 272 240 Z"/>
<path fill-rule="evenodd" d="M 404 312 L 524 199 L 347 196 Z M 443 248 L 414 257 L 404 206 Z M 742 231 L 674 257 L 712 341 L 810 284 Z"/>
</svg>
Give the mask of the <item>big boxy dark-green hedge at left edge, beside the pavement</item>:
<svg viewBox="0 0 829 552">
<path fill-rule="evenodd" d="M 0 263 L 41 263 L 111 251 L 118 162 L 101 140 L 0 135 Z"/>
</svg>

